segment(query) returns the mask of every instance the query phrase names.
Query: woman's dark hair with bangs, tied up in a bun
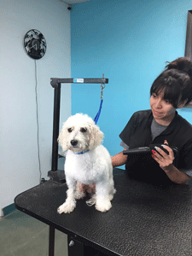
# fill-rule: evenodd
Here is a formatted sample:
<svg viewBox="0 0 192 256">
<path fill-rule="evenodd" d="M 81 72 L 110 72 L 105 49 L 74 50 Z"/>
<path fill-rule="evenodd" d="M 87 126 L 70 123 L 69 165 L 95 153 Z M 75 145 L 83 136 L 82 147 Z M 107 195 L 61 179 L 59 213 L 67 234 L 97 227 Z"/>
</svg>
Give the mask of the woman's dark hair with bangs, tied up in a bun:
<svg viewBox="0 0 192 256">
<path fill-rule="evenodd" d="M 168 62 L 166 70 L 154 80 L 150 89 L 150 96 L 163 91 L 164 100 L 170 102 L 174 108 L 179 103 L 192 101 L 192 61 L 187 57 Z"/>
</svg>

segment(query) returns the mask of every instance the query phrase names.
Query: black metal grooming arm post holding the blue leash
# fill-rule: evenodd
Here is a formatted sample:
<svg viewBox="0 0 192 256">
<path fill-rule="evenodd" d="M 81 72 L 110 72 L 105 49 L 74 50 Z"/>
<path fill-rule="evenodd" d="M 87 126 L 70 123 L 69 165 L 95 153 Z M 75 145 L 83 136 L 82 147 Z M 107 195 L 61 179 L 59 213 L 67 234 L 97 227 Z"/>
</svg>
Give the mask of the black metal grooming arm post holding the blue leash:
<svg viewBox="0 0 192 256">
<path fill-rule="evenodd" d="M 58 142 L 60 126 L 60 102 L 61 84 L 108 84 L 108 79 L 50 79 L 50 84 L 54 88 L 54 117 L 53 117 L 53 144 L 52 144 L 52 164 L 48 176 L 59 183 L 65 183 L 64 172 L 57 170 L 58 167 Z"/>
</svg>

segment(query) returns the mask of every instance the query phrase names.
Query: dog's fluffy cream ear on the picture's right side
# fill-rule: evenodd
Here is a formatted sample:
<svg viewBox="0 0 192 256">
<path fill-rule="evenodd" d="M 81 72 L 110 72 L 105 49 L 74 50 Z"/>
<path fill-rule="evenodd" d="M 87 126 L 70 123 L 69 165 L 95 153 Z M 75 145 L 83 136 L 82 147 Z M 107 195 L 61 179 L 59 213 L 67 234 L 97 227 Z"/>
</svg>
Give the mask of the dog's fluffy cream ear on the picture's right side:
<svg viewBox="0 0 192 256">
<path fill-rule="evenodd" d="M 99 126 L 90 125 L 90 143 L 89 149 L 94 149 L 102 143 L 103 133 L 100 131 Z"/>
</svg>

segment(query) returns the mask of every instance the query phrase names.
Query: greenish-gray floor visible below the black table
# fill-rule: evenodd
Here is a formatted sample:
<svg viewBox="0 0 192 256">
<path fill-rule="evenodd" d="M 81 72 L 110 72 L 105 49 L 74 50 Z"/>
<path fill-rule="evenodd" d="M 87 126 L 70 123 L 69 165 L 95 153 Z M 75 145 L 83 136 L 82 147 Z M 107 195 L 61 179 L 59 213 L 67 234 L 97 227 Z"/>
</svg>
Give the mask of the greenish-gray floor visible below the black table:
<svg viewBox="0 0 192 256">
<path fill-rule="evenodd" d="M 49 226 L 18 210 L 0 218 L 0 255 L 49 255 Z M 67 256 L 67 236 L 58 230 L 55 256 Z"/>
</svg>

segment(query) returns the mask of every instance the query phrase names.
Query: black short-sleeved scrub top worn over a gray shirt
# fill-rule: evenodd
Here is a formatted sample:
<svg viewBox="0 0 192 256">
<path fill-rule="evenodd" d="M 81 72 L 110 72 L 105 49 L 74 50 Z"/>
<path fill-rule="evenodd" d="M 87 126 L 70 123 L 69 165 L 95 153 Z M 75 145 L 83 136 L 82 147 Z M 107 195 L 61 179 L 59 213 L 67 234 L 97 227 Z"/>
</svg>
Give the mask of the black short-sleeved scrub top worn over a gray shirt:
<svg viewBox="0 0 192 256">
<path fill-rule="evenodd" d="M 192 125 L 177 114 L 166 130 L 152 140 L 151 123 L 153 120 L 151 110 L 134 113 L 120 133 L 121 140 L 129 148 L 148 147 L 149 144 L 163 144 L 166 140 L 171 147 L 178 148 L 178 154 L 173 162 L 179 171 L 192 170 Z M 151 154 L 128 155 L 125 169 L 129 177 L 147 183 L 169 185 L 172 181 L 167 177 Z"/>
</svg>

